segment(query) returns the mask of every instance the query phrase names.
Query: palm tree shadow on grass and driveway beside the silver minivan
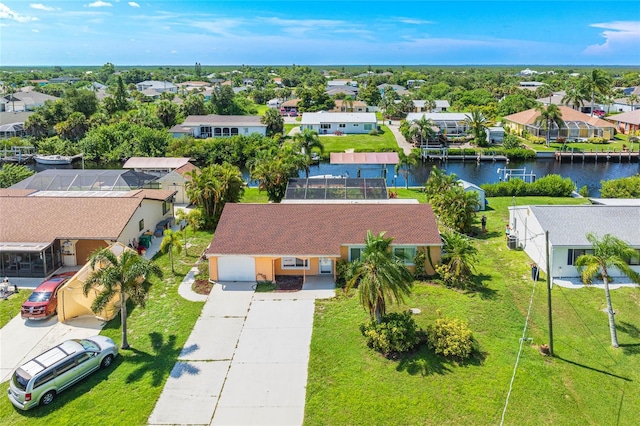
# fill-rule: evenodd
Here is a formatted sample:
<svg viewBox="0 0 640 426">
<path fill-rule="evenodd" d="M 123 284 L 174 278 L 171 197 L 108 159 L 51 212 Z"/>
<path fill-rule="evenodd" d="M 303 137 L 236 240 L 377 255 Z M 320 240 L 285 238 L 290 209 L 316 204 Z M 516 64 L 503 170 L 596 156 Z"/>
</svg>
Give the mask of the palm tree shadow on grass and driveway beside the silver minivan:
<svg viewBox="0 0 640 426">
<path fill-rule="evenodd" d="M 196 350 L 196 345 L 184 349 L 176 347 L 175 335 L 169 336 L 165 342 L 164 336 L 158 332 L 149 333 L 149 337 L 153 354 L 135 348 L 129 349 L 134 355 L 129 357 L 127 361 L 138 364 L 138 368 L 127 376 L 126 383 L 141 380 L 147 373 L 151 374 L 153 386 L 160 386 L 166 374 L 171 374 L 173 377 L 180 377 L 185 373 L 198 374 L 199 370 L 196 367 L 185 363 L 176 363 L 180 355 L 186 355 Z M 176 371 L 174 372 L 174 370 Z"/>
</svg>

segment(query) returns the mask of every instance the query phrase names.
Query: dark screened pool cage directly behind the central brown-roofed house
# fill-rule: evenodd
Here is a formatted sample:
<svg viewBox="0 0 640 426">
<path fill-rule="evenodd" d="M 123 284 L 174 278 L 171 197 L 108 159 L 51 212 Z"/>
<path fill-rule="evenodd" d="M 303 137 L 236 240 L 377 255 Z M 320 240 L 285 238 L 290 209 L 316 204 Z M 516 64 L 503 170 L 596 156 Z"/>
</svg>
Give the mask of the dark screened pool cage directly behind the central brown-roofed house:
<svg viewBox="0 0 640 426">
<path fill-rule="evenodd" d="M 387 185 L 381 178 L 289 179 L 288 200 L 386 200 Z"/>
</svg>

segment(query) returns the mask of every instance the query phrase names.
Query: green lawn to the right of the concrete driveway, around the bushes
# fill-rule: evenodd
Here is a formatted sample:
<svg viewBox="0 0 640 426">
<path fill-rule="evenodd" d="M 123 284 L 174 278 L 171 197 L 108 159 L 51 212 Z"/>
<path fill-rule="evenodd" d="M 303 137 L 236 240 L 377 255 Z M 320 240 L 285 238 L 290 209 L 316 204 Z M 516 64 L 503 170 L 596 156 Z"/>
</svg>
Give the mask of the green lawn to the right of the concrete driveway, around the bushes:
<svg viewBox="0 0 640 426">
<path fill-rule="evenodd" d="M 398 191 L 401 196 L 404 192 Z M 575 204 L 569 198 L 518 197 L 522 204 Z M 416 283 L 407 304 L 421 309 L 421 328 L 437 318 L 469 323 L 481 354 L 457 364 L 426 348 L 386 359 L 366 347 L 358 325 L 368 314 L 354 295 L 316 304 L 305 424 L 500 423 L 534 290 L 529 258 L 504 241 L 511 197 L 490 198 L 483 212 L 488 233 L 476 240 L 476 265 L 484 288 L 461 292 Z M 479 221 L 479 217 L 478 217 Z M 640 416 L 640 291 L 612 291 L 619 349 L 610 347 L 604 292 L 552 290 L 556 358 L 548 343 L 546 284 L 535 285 L 531 318 L 505 414 L 506 425 L 635 425 Z"/>
</svg>

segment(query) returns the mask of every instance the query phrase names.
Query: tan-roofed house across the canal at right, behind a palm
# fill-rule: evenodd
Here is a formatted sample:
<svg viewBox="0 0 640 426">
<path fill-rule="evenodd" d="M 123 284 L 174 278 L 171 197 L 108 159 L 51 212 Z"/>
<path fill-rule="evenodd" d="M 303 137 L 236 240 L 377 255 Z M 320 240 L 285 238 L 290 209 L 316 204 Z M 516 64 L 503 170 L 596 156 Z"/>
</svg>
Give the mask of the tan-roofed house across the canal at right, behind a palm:
<svg viewBox="0 0 640 426">
<path fill-rule="evenodd" d="M 558 129 L 552 123 L 549 137 L 551 140 L 563 137 L 567 139 L 588 139 L 591 137 L 601 137 L 607 140 L 613 139 L 615 127 L 608 121 L 598 117 L 583 114 L 580 111 L 561 105 L 558 107 L 562 114 L 565 126 Z M 517 112 L 503 117 L 504 127 L 509 127 L 513 133 L 522 134 L 524 130 L 538 137 L 546 137 L 547 131 L 539 124 L 536 118 L 540 113 L 535 109 Z"/>
</svg>

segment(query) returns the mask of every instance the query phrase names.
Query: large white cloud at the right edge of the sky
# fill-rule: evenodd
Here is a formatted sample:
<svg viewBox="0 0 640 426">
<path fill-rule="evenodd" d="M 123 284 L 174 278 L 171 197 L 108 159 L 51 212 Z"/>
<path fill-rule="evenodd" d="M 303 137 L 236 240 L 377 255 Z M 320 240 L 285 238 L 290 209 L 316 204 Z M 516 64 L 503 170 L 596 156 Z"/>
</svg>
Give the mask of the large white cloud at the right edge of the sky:
<svg viewBox="0 0 640 426">
<path fill-rule="evenodd" d="M 613 21 L 591 24 L 594 28 L 603 28 L 600 35 L 605 39 L 602 44 L 592 44 L 584 49 L 587 55 L 638 55 L 640 46 L 639 21 Z"/>
</svg>

